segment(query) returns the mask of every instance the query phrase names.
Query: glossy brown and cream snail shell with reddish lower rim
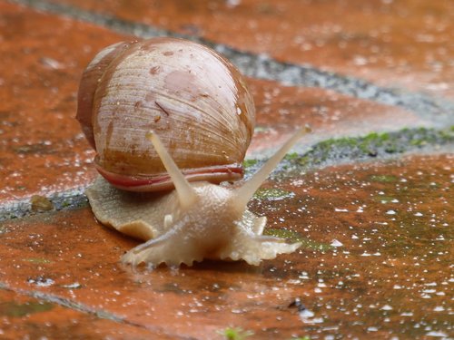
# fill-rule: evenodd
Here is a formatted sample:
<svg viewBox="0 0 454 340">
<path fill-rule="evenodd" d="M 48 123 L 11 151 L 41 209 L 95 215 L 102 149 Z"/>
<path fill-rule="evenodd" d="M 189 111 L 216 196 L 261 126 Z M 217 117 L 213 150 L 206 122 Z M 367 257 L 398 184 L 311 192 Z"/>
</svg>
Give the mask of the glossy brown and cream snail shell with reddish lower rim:
<svg viewBox="0 0 454 340">
<path fill-rule="evenodd" d="M 84 71 L 76 118 L 106 180 L 119 189 L 154 191 L 173 184 L 148 131 L 160 136 L 187 180 L 237 180 L 255 109 L 242 75 L 220 54 L 156 38 L 98 53 Z"/>
</svg>

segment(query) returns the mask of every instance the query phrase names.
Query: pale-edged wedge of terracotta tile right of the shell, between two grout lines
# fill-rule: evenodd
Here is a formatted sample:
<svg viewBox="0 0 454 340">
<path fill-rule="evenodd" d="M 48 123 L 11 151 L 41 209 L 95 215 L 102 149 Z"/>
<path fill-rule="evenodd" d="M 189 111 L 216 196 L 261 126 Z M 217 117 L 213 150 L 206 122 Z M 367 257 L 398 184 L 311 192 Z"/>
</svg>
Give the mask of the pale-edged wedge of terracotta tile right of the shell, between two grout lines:
<svg viewBox="0 0 454 340">
<path fill-rule="evenodd" d="M 330 138 L 429 127 L 435 123 L 399 107 L 319 88 L 287 87 L 253 79 L 249 83 L 257 108 L 257 128 L 249 151 L 251 157 L 278 147 L 296 127 L 304 124 L 311 126 L 312 133 L 301 144 L 310 146 Z"/>
</svg>

